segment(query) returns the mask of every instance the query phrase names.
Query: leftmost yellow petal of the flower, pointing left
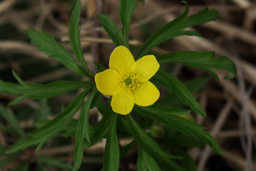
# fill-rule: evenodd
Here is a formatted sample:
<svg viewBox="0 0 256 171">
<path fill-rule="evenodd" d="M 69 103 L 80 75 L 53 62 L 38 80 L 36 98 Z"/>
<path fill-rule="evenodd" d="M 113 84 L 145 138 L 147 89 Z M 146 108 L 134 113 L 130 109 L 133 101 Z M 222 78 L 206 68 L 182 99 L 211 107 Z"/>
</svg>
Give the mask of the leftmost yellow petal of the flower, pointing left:
<svg viewBox="0 0 256 171">
<path fill-rule="evenodd" d="M 113 96 L 114 92 L 119 89 L 118 79 L 120 74 L 114 69 L 106 69 L 105 71 L 95 75 L 97 89 L 105 95 Z"/>
</svg>

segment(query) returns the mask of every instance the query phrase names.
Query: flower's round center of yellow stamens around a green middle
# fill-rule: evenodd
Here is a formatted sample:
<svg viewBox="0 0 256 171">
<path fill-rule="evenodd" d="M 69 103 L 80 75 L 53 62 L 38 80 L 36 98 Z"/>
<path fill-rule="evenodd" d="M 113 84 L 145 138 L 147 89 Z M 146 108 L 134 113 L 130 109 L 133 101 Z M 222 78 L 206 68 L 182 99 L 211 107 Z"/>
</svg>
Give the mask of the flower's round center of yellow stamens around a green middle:
<svg viewBox="0 0 256 171">
<path fill-rule="evenodd" d="M 140 77 L 139 75 L 132 74 L 132 71 L 122 71 L 121 76 L 117 78 L 118 87 L 123 89 L 125 93 L 130 93 L 136 87 L 140 86 Z"/>
</svg>

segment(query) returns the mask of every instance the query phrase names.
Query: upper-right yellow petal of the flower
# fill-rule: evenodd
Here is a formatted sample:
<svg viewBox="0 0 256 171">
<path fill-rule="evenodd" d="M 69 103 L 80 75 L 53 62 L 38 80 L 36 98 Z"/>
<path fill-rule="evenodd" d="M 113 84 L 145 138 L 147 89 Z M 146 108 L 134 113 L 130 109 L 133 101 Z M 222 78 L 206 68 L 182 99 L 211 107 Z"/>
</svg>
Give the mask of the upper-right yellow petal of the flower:
<svg viewBox="0 0 256 171">
<path fill-rule="evenodd" d="M 139 75 L 139 82 L 146 82 L 156 74 L 159 66 L 160 65 L 158 64 L 154 55 L 147 55 L 140 58 L 133 64 L 132 71 L 134 75 Z"/>
</svg>

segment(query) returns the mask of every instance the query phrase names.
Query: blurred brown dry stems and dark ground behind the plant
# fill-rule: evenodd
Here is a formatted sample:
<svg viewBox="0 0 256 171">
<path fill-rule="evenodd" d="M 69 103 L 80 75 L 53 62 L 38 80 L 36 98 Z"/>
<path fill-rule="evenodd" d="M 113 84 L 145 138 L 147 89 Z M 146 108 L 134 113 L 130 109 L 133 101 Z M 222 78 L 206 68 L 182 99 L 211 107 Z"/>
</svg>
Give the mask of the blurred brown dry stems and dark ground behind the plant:
<svg viewBox="0 0 256 171">
<path fill-rule="evenodd" d="M 203 70 L 183 66 L 164 66 L 181 82 L 193 83 L 194 96 L 206 111 L 207 117 L 194 116 L 195 122 L 203 125 L 220 143 L 223 156 L 218 156 L 208 147 L 190 148 L 188 153 L 196 162 L 199 171 L 253 171 L 256 170 L 256 1 L 255 0 L 187 0 L 189 15 L 204 8 L 215 8 L 220 18 L 193 28 L 203 38 L 180 36 L 165 41 L 152 50 L 158 55 L 173 51 L 215 51 L 215 56 L 227 56 L 237 67 L 237 76 L 223 80 L 227 74 L 215 70 L 220 82 Z M 68 24 L 76 0 L 2 0 L 0 1 L 0 79 L 17 83 L 14 70 L 28 83 L 47 84 L 53 81 L 83 81 L 78 74 L 62 66 L 54 58 L 37 51 L 37 45 L 30 44 L 26 29 L 44 30 L 72 53 L 68 39 Z M 115 48 L 97 21 L 97 14 L 105 13 L 121 30 L 119 0 L 81 0 L 80 19 L 81 43 L 88 66 L 96 73 L 93 61 L 108 68 L 108 58 Z M 157 29 L 184 12 L 180 0 L 145 0 L 145 6 L 138 2 L 130 27 L 131 50 L 135 55 L 145 40 Z M 198 78 L 196 81 L 194 78 Z M 82 90 L 72 91 L 47 100 L 25 99 L 20 104 L 9 106 L 14 95 L 0 93 L 0 171 L 9 171 L 21 161 L 28 160 L 28 170 L 35 167 L 35 157 L 45 155 L 73 163 L 74 137 L 53 138 L 37 153 L 35 148 L 19 152 L 16 156 L 5 155 L 6 147 L 20 137 L 13 132 L 3 113 L 13 113 L 24 133 L 36 129 L 34 122 L 52 119 L 61 112 Z M 163 99 L 163 97 L 160 97 Z M 166 102 L 172 103 L 172 102 Z M 2 113 L 2 114 L 1 114 Z M 75 115 L 78 119 L 79 113 Z M 90 120 L 97 124 L 100 118 L 97 109 L 90 113 Z M 127 144 L 126 140 L 120 140 Z M 97 171 L 103 163 L 104 142 L 84 150 L 80 170 Z M 120 163 L 120 170 L 136 170 L 131 151 Z M 40 161 L 40 159 L 37 159 Z M 41 159 L 42 161 L 43 159 Z M 46 163 L 43 160 L 43 163 Z M 128 167 L 122 169 L 125 163 Z M 49 163 L 48 163 L 49 164 Z M 44 166 L 42 164 L 42 166 Z M 42 167 L 44 168 L 44 167 Z M 65 170 L 45 166 L 48 170 Z"/>
</svg>

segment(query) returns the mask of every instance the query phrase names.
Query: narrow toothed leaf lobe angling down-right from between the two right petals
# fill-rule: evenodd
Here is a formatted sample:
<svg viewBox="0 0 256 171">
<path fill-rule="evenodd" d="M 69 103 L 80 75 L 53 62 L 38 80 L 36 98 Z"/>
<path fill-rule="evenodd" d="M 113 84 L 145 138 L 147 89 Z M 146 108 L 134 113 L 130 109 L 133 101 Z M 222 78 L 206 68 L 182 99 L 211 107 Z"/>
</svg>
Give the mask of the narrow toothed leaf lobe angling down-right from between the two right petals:
<svg viewBox="0 0 256 171">
<path fill-rule="evenodd" d="M 202 106 L 196 102 L 196 98 L 177 78 L 164 71 L 157 71 L 156 74 L 161 75 L 165 79 L 165 82 L 172 87 L 173 92 L 185 105 L 189 105 L 195 113 L 199 113 L 201 116 L 206 116 Z"/>
</svg>

